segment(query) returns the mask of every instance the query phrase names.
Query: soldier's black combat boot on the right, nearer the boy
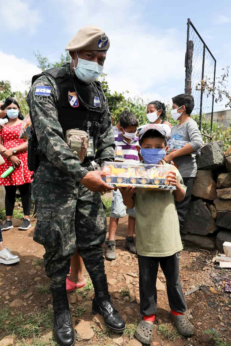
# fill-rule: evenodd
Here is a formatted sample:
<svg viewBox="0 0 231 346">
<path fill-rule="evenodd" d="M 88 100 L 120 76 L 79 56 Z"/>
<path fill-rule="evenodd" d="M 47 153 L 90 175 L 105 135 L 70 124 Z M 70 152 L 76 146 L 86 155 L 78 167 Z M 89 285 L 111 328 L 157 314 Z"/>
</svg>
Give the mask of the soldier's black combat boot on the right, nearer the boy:
<svg viewBox="0 0 231 346">
<path fill-rule="evenodd" d="M 107 276 L 92 280 L 95 289 L 95 298 L 92 301 L 92 313 L 99 313 L 104 317 L 105 325 L 116 333 L 123 333 L 125 322 L 118 310 L 113 306 L 108 293 Z"/>
</svg>

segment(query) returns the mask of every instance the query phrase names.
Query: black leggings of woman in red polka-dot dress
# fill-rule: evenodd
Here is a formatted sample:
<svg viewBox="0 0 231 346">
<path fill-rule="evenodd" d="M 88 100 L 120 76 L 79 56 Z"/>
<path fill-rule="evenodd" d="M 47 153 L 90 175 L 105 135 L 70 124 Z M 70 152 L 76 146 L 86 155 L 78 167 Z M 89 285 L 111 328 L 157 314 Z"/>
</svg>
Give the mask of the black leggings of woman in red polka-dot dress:
<svg viewBox="0 0 231 346">
<path fill-rule="evenodd" d="M 23 204 L 23 213 L 24 213 L 24 215 L 30 215 L 31 184 L 26 183 L 23 185 L 5 186 L 5 190 L 6 190 L 6 196 L 5 196 L 6 216 L 12 216 L 13 215 L 17 189 L 19 190 L 20 195 L 21 195 L 21 200 L 22 200 L 22 204 Z"/>
</svg>

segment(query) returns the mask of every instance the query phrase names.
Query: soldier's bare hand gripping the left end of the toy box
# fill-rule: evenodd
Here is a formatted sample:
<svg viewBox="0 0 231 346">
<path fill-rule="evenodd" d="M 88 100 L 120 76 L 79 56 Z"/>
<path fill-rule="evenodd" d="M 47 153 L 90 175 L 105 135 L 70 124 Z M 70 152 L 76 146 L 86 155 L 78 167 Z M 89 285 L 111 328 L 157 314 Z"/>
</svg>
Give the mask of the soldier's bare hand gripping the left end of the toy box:
<svg viewBox="0 0 231 346">
<path fill-rule="evenodd" d="M 101 177 L 106 176 L 104 171 L 90 171 L 81 180 L 80 183 L 86 186 L 90 191 L 106 192 L 114 190 L 113 186 L 106 184 Z"/>
</svg>

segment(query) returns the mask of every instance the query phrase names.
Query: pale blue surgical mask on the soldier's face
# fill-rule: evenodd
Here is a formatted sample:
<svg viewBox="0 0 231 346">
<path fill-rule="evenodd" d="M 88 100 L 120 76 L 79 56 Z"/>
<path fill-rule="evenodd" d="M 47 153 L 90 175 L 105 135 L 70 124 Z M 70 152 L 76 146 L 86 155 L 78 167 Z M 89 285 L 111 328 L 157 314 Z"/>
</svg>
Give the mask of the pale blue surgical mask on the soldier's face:
<svg viewBox="0 0 231 346">
<path fill-rule="evenodd" d="M 77 66 L 74 66 L 74 72 L 77 78 L 86 83 L 95 82 L 97 78 L 99 78 L 99 76 L 103 73 L 103 69 L 104 66 L 99 65 L 97 62 L 88 61 L 79 57 Z"/>
</svg>

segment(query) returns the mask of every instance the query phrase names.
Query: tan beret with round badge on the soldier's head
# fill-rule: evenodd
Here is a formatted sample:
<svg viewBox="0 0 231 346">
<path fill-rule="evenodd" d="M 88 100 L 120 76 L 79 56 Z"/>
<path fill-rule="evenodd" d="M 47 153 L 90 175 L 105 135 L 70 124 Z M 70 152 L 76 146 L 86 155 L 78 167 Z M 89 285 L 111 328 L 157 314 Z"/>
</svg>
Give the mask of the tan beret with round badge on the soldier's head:
<svg viewBox="0 0 231 346">
<path fill-rule="evenodd" d="M 85 26 L 72 37 L 66 51 L 107 51 L 110 41 L 105 32 L 94 26 Z"/>
</svg>

